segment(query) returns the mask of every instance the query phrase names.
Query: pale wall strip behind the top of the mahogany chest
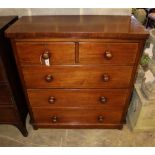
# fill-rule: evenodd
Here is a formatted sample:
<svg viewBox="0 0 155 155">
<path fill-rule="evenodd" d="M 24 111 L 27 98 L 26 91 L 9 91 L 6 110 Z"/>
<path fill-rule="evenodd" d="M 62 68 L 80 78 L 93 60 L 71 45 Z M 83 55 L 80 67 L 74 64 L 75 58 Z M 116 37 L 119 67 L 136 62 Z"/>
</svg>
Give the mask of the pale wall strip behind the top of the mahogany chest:
<svg viewBox="0 0 155 155">
<path fill-rule="evenodd" d="M 0 8 L 0 15 L 130 15 L 129 8 Z"/>
</svg>

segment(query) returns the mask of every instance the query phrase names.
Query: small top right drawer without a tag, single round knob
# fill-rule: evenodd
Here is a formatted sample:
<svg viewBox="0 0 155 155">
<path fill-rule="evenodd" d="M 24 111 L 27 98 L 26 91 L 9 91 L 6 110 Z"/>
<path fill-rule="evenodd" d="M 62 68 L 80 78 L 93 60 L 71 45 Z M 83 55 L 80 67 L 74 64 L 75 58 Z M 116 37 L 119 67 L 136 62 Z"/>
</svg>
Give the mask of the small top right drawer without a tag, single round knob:
<svg viewBox="0 0 155 155">
<path fill-rule="evenodd" d="M 80 43 L 79 61 L 81 64 L 131 65 L 137 52 L 137 43 Z"/>
</svg>

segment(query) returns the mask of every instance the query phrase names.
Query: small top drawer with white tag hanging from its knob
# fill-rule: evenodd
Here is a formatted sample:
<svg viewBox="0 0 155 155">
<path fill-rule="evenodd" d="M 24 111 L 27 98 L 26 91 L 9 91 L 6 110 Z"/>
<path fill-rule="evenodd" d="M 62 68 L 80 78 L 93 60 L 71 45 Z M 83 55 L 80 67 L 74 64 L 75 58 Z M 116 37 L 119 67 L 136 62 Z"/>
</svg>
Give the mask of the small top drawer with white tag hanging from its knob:
<svg viewBox="0 0 155 155">
<path fill-rule="evenodd" d="M 16 47 L 22 65 L 75 63 L 75 44 L 72 42 L 17 42 Z"/>
</svg>

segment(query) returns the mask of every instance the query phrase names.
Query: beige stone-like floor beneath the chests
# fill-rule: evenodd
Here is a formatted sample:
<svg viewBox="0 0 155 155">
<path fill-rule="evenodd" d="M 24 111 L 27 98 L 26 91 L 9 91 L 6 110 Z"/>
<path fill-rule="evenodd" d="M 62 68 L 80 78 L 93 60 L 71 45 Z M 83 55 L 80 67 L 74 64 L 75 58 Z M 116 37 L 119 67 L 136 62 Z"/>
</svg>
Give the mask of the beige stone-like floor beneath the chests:
<svg viewBox="0 0 155 155">
<path fill-rule="evenodd" d="M 27 119 L 28 137 L 11 125 L 0 125 L 0 146 L 116 147 L 155 146 L 155 132 L 131 132 L 127 125 L 117 129 L 38 129 Z"/>
</svg>

